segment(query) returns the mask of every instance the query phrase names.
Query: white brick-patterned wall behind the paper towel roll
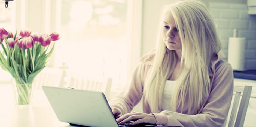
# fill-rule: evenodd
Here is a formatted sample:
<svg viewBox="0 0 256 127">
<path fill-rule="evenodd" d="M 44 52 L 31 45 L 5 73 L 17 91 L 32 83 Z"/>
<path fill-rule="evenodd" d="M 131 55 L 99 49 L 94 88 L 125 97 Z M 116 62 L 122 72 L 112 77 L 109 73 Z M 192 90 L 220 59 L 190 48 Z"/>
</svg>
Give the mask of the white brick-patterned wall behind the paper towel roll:
<svg viewBox="0 0 256 127">
<path fill-rule="evenodd" d="M 246 38 L 245 67 L 256 69 L 256 15 L 248 15 L 246 4 L 209 3 L 209 11 L 214 18 L 222 43 L 222 51 L 228 56 L 228 38 L 233 37 L 233 29 L 237 29 L 237 37 Z"/>
</svg>

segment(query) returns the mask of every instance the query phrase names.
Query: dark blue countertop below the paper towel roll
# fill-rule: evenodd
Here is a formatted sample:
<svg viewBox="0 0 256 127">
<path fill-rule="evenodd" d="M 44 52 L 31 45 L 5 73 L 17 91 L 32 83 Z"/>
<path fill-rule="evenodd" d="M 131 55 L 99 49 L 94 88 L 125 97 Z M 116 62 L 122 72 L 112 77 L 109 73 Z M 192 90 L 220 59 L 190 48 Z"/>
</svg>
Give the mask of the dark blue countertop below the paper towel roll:
<svg viewBox="0 0 256 127">
<path fill-rule="evenodd" d="M 256 70 L 233 71 L 234 78 L 256 80 Z"/>
</svg>

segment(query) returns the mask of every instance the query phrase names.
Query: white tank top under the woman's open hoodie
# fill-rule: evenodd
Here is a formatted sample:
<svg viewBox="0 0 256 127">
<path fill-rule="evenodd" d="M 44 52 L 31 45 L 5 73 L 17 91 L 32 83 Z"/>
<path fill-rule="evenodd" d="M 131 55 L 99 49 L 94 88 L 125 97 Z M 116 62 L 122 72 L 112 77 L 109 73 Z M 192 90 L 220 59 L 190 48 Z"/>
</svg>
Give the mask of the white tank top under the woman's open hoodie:
<svg viewBox="0 0 256 127">
<path fill-rule="evenodd" d="M 163 90 L 161 110 L 172 110 L 171 101 L 176 81 L 167 80 Z"/>
</svg>

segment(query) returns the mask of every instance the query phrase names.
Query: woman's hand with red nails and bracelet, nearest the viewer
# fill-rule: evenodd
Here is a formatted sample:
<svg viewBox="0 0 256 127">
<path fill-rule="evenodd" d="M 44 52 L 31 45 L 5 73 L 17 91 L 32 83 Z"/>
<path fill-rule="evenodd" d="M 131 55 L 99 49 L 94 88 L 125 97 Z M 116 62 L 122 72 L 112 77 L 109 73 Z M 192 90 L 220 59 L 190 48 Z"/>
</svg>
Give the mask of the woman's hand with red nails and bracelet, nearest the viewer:
<svg viewBox="0 0 256 127">
<path fill-rule="evenodd" d="M 156 118 L 153 114 L 140 113 L 140 112 L 131 112 L 124 114 L 116 119 L 119 124 L 123 124 L 129 121 L 134 121 L 130 125 L 136 125 L 139 123 L 150 123 L 155 124 Z"/>
</svg>

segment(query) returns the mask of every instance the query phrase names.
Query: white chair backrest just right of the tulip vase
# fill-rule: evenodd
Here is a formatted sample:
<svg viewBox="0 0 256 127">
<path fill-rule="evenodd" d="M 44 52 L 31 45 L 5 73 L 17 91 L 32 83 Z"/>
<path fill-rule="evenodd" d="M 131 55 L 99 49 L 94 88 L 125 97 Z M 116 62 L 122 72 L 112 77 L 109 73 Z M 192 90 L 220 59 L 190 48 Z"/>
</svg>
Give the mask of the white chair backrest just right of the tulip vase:
<svg viewBox="0 0 256 127">
<path fill-rule="evenodd" d="M 42 89 L 42 86 L 59 86 L 62 69 L 45 67 L 36 76 L 36 89 Z"/>
</svg>

